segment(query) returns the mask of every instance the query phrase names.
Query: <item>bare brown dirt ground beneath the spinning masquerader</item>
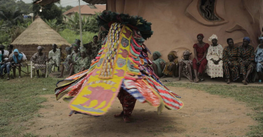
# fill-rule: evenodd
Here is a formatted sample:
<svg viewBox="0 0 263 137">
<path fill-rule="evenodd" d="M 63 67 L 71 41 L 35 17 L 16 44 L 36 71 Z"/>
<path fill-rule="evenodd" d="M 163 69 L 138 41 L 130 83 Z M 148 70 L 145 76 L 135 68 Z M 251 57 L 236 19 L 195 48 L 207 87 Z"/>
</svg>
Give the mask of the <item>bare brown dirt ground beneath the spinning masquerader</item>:
<svg viewBox="0 0 263 137">
<path fill-rule="evenodd" d="M 36 117 L 29 120 L 24 133 L 52 137 L 227 137 L 244 136 L 249 125 L 256 122 L 247 114 L 253 113 L 243 102 L 222 98 L 204 91 L 169 87 L 182 96 L 184 107 L 179 111 L 164 109 L 158 115 L 157 108 L 137 102 L 131 116 L 132 122 L 124 123 L 113 115 L 121 112 L 116 98 L 112 108 L 100 117 L 74 114 L 63 100 L 54 95 L 44 95 Z"/>
</svg>

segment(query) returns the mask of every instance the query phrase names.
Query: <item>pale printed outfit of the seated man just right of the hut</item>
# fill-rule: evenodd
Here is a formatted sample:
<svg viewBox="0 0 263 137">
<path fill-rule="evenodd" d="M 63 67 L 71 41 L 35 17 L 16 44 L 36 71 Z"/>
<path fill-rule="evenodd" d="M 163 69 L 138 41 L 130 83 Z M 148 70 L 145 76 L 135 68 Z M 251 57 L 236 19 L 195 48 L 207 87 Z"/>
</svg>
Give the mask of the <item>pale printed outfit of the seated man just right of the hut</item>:
<svg viewBox="0 0 263 137">
<path fill-rule="evenodd" d="M 57 64 L 57 66 L 59 66 L 59 64 L 60 64 L 60 50 L 56 49 L 55 52 L 53 50 L 50 50 L 49 51 L 49 58 L 51 58 L 49 60 L 49 63 L 48 63 L 48 70 L 50 73 L 51 69 L 53 67 L 53 64 Z"/>
</svg>

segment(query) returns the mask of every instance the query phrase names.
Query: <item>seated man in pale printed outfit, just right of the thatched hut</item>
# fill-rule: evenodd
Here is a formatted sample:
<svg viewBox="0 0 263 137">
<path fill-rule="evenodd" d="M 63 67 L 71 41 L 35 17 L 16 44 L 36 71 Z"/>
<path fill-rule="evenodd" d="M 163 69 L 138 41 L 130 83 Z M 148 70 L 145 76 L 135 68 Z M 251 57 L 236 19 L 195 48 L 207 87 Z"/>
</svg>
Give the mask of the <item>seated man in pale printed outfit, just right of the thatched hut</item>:
<svg viewBox="0 0 263 137">
<path fill-rule="evenodd" d="M 52 50 L 49 51 L 49 59 L 48 59 L 48 69 L 49 73 L 51 73 L 51 69 L 53 65 L 55 67 L 58 67 L 59 70 L 59 64 L 60 64 L 60 50 L 57 49 L 57 45 L 53 44 L 52 45 Z"/>
</svg>

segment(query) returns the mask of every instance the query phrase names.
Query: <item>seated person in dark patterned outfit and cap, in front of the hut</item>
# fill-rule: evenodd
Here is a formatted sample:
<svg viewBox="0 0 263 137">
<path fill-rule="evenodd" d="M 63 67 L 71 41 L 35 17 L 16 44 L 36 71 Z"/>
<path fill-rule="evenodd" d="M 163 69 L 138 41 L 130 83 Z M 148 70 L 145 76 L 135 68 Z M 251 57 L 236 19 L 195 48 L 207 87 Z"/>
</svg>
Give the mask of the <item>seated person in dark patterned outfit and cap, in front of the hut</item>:
<svg viewBox="0 0 263 137">
<path fill-rule="evenodd" d="M 38 52 L 35 53 L 31 58 L 30 61 L 34 63 L 34 67 L 37 70 L 37 75 L 39 78 L 39 69 L 42 72 L 42 77 L 44 78 L 44 73 L 46 73 L 46 62 L 48 60 L 48 57 L 45 53 L 42 53 L 42 50 L 45 47 L 38 46 Z"/>
</svg>

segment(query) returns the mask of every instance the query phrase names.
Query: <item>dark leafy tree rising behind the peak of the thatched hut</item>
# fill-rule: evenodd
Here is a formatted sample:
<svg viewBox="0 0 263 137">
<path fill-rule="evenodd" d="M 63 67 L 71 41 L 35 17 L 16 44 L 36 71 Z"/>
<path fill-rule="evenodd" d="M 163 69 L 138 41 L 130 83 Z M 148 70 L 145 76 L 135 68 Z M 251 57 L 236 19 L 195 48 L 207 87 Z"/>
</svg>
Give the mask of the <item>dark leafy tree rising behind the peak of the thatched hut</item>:
<svg viewBox="0 0 263 137">
<path fill-rule="evenodd" d="M 39 15 L 42 19 L 47 20 L 56 19 L 57 24 L 62 23 L 62 10 L 57 5 L 54 3 L 48 4 L 42 8 L 42 12 L 39 12 L 40 8 L 40 5 L 33 5 L 34 16 Z"/>
</svg>

